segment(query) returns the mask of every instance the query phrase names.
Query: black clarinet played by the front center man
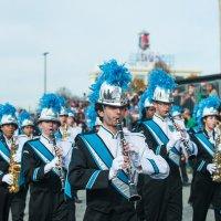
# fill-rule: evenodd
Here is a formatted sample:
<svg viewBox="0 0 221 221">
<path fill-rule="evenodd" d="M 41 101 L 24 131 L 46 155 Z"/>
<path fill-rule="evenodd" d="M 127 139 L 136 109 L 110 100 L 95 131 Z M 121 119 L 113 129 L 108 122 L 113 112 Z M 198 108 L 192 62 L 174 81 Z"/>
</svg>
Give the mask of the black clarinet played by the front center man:
<svg viewBox="0 0 221 221">
<path fill-rule="evenodd" d="M 122 148 L 123 148 L 123 155 L 127 156 L 128 159 L 129 159 L 129 168 L 127 168 L 127 170 L 126 170 L 126 172 L 128 173 L 128 180 L 129 180 L 128 181 L 128 185 L 129 185 L 129 201 L 130 202 L 136 202 L 136 201 L 139 201 L 141 199 L 141 197 L 138 194 L 137 187 L 135 185 L 135 175 L 133 176 L 130 156 L 124 149 L 124 147 L 126 146 L 127 141 L 125 139 L 123 127 L 122 127 L 122 122 L 119 119 L 117 120 L 116 127 L 117 127 L 117 131 L 119 133 L 119 136 L 120 136 L 120 145 L 122 145 Z"/>
</svg>

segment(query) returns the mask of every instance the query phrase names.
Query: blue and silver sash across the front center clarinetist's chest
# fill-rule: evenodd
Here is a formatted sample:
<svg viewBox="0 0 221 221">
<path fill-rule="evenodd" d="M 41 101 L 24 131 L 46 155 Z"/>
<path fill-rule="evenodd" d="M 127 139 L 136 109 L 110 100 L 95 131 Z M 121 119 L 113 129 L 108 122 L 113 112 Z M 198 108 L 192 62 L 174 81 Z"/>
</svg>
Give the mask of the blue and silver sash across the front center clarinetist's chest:
<svg viewBox="0 0 221 221">
<path fill-rule="evenodd" d="M 99 138 L 99 136 L 97 134 L 87 134 L 87 135 L 81 135 L 81 137 L 82 137 L 82 140 L 85 143 L 85 146 L 90 150 L 92 157 L 94 158 L 97 167 L 102 169 L 102 166 L 99 165 L 98 160 L 96 159 L 96 157 L 94 156 L 94 154 L 91 151 L 90 148 L 92 148 L 96 152 L 96 155 L 101 158 L 102 162 L 106 165 L 106 167 L 109 169 L 112 167 L 112 162 L 114 158 L 110 151 L 108 150 L 108 148 L 106 147 L 106 145 L 104 144 L 104 141 Z M 116 179 L 119 180 L 120 183 L 124 183 L 124 185 L 118 185 L 119 182 L 115 182 L 115 183 L 112 182 L 112 185 L 122 196 L 124 196 L 125 198 L 128 198 L 128 196 L 125 194 L 125 192 L 123 191 L 125 187 L 128 188 L 128 176 L 123 170 L 120 170 L 117 173 Z"/>
</svg>

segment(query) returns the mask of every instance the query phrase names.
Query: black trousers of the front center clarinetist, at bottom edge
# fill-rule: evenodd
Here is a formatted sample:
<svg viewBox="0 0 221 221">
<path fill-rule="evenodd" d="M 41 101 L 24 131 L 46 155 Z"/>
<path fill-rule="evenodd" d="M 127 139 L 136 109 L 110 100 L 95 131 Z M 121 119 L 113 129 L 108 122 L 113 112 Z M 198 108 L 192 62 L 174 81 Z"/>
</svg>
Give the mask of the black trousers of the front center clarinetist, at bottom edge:
<svg viewBox="0 0 221 221">
<path fill-rule="evenodd" d="M 115 209 L 105 213 L 87 207 L 83 221 L 137 221 L 135 210 L 116 211 Z"/>
</svg>

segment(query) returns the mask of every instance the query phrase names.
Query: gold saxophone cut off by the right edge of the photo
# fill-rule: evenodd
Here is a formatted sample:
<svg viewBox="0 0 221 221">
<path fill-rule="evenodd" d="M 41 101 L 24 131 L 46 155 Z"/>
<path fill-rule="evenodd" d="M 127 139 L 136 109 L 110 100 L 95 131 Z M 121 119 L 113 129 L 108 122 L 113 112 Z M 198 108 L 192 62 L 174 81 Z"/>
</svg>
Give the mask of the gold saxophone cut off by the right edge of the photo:
<svg viewBox="0 0 221 221">
<path fill-rule="evenodd" d="M 217 170 L 212 173 L 212 180 L 221 182 L 221 124 L 215 127 L 215 152 L 212 162 L 217 166 Z"/>
</svg>

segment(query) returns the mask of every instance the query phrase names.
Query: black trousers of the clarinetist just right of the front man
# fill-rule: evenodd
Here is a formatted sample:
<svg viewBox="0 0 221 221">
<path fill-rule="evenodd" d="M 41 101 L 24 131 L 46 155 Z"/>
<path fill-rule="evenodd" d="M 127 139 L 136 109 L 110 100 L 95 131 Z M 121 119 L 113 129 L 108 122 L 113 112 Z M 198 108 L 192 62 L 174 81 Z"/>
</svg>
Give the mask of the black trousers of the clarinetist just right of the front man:
<svg viewBox="0 0 221 221">
<path fill-rule="evenodd" d="M 137 207 L 139 220 L 181 221 L 182 183 L 178 172 L 170 173 L 164 180 L 146 176 L 141 187 L 141 197 L 143 200 Z"/>
</svg>

